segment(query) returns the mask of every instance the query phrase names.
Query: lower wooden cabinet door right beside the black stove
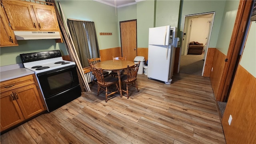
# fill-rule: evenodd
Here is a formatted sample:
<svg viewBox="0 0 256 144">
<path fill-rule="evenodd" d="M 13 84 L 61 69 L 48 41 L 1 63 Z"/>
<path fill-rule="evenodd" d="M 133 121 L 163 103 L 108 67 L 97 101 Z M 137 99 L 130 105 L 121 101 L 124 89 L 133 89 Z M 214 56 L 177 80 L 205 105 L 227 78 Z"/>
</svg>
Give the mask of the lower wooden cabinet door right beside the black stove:
<svg viewBox="0 0 256 144">
<path fill-rule="evenodd" d="M 45 110 L 35 84 L 15 89 L 13 93 L 25 119 Z"/>
</svg>

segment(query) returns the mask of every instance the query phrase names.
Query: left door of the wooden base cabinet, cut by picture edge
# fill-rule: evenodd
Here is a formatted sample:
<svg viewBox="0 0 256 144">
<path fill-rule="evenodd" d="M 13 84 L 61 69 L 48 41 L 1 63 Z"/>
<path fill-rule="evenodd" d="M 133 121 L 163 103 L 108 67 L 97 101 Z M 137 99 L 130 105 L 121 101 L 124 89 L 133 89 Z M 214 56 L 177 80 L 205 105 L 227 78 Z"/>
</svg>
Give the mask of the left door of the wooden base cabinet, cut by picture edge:
<svg viewBox="0 0 256 144">
<path fill-rule="evenodd" d="M 2 130 L 6 130 L 22 122 L 24 117 L 12 92 L 1 93 L 0 98 L 0 123 L 2 132 Z"/>
</svg>

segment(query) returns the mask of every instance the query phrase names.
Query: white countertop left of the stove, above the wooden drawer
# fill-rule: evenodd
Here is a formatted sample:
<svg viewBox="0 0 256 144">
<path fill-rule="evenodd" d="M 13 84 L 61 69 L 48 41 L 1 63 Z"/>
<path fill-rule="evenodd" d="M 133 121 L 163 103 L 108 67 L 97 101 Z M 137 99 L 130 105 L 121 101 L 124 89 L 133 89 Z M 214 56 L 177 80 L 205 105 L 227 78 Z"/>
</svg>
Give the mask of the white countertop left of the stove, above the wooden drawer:
<svg viewBox="0 0 256 144">
<path fill-rule="evenodd" d="M 12 64 L 0 67 L 0 82 L 34 74 L 32 70 L 24 68 L 23 64 Z"/>
</svg>

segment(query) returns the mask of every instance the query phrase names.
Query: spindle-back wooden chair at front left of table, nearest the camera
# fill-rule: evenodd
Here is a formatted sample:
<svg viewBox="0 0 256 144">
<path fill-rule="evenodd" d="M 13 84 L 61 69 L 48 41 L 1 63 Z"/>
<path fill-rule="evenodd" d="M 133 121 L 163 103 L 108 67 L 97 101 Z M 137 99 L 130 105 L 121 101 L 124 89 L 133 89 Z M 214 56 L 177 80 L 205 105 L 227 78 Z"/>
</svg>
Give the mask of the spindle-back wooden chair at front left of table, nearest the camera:
<svg viewBox="0 0 256 144">
<path fill-rule="evenodd" d="M 119 87 L 118 87 L 118 79 L 114 78 L 112 76 L 107 76 L 104 77 L 103 74 L 103 70 L 101 68 L 96 68 L 94 65 L 90 64 L 92 67 L 92 72 L 94 73 L 94 75 L 97 78 L 97 83 L 98 83 L 98 92 L 97 92 L 97 96 L 100 94 L 100 89 L 105 91 L 105 95 L 106 95 L 106 100 L 105 102 L 108 102 L 108 96 L 119 92 Z M 116 84 L 116 91 L 111 91 L 110 89 L 108 89 L 111 85 Z M 110 93 L 108 93 L 110 92 Z"/>
</svg>

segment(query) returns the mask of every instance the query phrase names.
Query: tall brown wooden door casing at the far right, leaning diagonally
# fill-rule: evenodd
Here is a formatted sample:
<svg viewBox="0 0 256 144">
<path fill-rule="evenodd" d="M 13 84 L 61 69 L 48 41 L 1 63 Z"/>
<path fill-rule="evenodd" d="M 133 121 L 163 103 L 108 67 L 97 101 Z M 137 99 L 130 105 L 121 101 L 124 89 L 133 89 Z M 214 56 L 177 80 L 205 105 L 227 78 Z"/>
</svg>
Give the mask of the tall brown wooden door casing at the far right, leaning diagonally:
<svg viewBox="0 0 256 144">
<path fill-rule="evenodd" d="M 253 0 L 240 0 L 234 29 L 228 47 L 228 53 L 226 56 L 228 61 L 224 64 L 219 84 L 219 90 L 215 96 L 216 100 L 218 101 L 223 102 L 228 94 L 228 89 L 230 87 L 230 82 L 236 66 L 236 61 L 238 60 L 238 55 L 244 40 L 244 35 L 246 33 L 246 24 L 249 21 L 252 5 Z"/>
</svg>

